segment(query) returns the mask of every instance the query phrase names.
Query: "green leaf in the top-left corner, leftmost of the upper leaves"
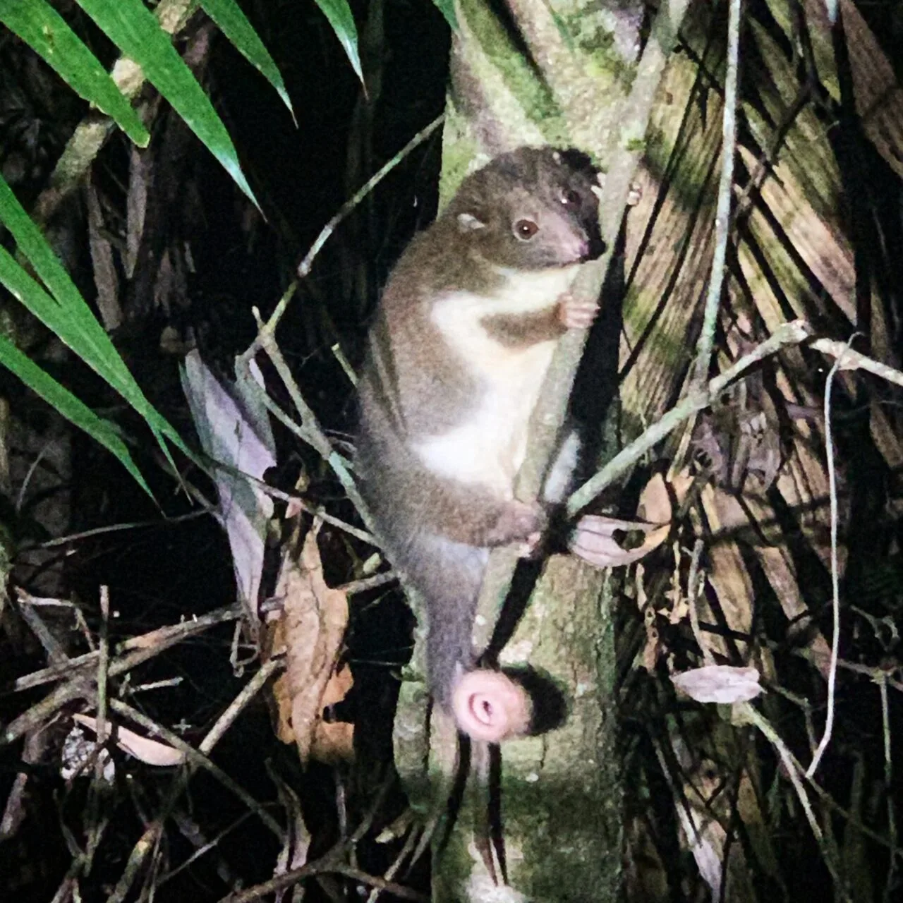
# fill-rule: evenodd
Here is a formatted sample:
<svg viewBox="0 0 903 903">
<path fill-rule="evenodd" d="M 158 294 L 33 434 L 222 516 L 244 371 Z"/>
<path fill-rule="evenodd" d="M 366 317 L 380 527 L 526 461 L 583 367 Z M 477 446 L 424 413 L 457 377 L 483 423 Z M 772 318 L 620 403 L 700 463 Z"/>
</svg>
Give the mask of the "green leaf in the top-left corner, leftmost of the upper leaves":
<svg viewBox="0 0 903 903">
<path fill-rule="evenodd" d="M 22 38 L 80 97 L 115 120 L 135 144 L 147 146 L 150 135 L 128 99 L 46 0 L 0 0 L 0 22 Z"/>
</svg>

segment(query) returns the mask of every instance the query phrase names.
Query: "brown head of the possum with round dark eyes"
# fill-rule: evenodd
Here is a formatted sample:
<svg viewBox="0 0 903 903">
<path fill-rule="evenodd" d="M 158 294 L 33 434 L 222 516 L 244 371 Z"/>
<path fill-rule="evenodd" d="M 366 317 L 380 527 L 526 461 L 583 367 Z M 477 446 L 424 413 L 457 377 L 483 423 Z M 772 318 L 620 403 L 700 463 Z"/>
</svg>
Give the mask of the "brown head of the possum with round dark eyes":
<svg viewBox="0 0 903 903">
<path fill-rule="evenodd" d="M 471 253 L 517 271 L 582 263 L 605 247 L 597 172 L 577 151 L 521 147 L 472 173 L 449 205 Z"/>
</svg>

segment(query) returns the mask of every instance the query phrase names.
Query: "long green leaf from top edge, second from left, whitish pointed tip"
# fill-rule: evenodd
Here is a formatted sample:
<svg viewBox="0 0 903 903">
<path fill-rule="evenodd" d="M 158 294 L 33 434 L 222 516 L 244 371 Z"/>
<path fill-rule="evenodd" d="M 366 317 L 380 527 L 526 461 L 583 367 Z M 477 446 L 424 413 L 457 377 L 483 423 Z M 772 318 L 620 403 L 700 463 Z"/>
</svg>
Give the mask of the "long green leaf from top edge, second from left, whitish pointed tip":
<svg viewBox="0 0 903 903">
<path fill-rule="evenodd" d="M 78 0 L 78 4 L 110 41 L 141 66 L 148 81 L 256 204 L 226 126 L 142 0 Z"/>
</svg>

